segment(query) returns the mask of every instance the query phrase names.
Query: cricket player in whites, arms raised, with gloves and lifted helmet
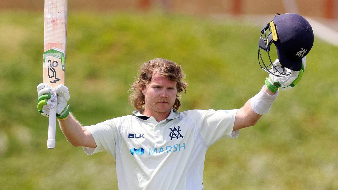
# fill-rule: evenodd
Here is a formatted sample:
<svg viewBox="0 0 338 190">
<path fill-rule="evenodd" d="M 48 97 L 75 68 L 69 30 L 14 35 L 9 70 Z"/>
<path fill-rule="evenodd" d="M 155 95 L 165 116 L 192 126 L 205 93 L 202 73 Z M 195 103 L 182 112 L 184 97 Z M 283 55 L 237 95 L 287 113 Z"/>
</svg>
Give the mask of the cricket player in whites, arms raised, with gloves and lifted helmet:
<svg viewBox="0 0 338 190">
<path fill-rule="evenodd" d="M 202 190 L 207 149 L 221 139 L 237 138 L 241 128 L 255 125 L 269 112 L 278 89 L 291 89 L 303 75 L 305 55 L 313 44 L 310 24 L 296 14 L 276 16 L 272 22 L 269 26 L 276 28 L 279 37 L 273 41 L 280 51 L 279 59 L 265 68 L 270 73 L 265 85 L 242 108 L 179 112 L 178 94 L 187 90 L 185 75 L 176 63 L 155 58 L 141 66 L 129 97 L 135 111 L 127 116 L 82 126 L 67 105 L 68 88 L 57 86 L 57 118 L 62 132 L 73 146 L 82 146 L 88 155 L 107 151 L 114 157 L 119 190 Z M 294 31 L 292 38 L 283 33 L 290 33 L 287 27 Z M 298 38 L 297 43 L 283 49 L 294 38 Z M 268 52 L 272 44 L 269 40 L 260 38 L 266 45 L 260 43 L 259 49 Z M 311 40 L 312 44 L 308 43 Z M 290 49 L 293 52 L 288 52 Z M 37 89 L 38 109 L 48 116 L 49 109 L 55 106 L 55 93 L 43 83 Z"/>
</svg>

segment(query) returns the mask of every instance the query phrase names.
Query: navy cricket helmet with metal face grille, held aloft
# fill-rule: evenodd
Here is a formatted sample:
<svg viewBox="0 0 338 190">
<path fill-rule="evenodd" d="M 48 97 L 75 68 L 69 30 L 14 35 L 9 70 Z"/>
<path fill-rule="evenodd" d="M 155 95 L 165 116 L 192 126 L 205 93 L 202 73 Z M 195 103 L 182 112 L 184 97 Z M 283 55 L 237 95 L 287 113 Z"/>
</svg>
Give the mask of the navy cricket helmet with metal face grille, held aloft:
<svg viewBox="0 0 338 190">
<path fill-rule="evenodd" d="M 272 64 L 273 61 L 269 55 L 272 43 L 276 47 L 277 57 L 282 68 L 299 71 L 302 58 L 310 52 L 313 46 L 312 27 L 305 18 L 298 14 L 280 15 L 276 13 L 273 20 L 261 30 L 258 43 L 259 65 L 269 74 L 287 76 L 290 72 L 280 72 Z M 263 61 L 261 52 L 267 53 L 266 63 Z"/>
</svg>

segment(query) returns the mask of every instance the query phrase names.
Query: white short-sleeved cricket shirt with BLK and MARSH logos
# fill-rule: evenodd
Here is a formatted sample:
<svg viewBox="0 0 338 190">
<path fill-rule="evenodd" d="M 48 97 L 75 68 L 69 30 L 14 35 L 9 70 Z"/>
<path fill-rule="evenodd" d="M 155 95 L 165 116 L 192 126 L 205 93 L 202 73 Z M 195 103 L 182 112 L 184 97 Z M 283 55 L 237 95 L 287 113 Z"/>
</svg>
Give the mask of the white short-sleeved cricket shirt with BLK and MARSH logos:
<svg viewBox="0 0 338 190">
<path fill-rule="evenodd" d="M 107 151 L 115 158 L 119 190 L 202 190 L 206 151 L 220 139 L 237 138 L 236 113 L 171 109 L 157 122 L 134 111 L 85 126 L 97 147 L 83 150 L 88 155 Z"/>
</svg>

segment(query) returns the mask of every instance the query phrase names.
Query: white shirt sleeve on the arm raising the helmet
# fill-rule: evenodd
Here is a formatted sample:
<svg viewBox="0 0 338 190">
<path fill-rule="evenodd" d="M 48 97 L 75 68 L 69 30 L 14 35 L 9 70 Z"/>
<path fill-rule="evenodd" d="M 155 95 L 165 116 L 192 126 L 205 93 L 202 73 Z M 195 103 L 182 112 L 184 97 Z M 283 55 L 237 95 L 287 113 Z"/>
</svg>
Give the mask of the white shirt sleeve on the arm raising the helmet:
<svg viewBox="0 0 338 190">
<path fill-rule="evenodd" d="M 237 110 L 189 110 L 187 115 L 200 127 L 200 134 L 208 147 L 221 139 L 237 138 L 233 132 Z"/>
</svg>

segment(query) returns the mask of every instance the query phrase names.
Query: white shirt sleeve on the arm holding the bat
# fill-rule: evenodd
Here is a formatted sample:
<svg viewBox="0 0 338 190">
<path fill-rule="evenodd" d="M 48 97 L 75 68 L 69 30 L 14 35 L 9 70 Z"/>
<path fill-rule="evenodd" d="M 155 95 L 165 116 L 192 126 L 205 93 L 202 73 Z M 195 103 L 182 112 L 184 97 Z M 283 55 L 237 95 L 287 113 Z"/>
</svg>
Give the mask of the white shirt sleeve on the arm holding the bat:
<svg viewBox="0 0 338 190">
<path fill-rule="evenodd" d="M 96 125 L 84 126 L 93 135 L 96 143 L 96 148 L 82 147 L 84 152 L 93 155 L 96 152 L 107 151 L 115 158 L 118 122 L 119 118 L 115 118 Z"/>
</svg>

